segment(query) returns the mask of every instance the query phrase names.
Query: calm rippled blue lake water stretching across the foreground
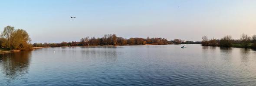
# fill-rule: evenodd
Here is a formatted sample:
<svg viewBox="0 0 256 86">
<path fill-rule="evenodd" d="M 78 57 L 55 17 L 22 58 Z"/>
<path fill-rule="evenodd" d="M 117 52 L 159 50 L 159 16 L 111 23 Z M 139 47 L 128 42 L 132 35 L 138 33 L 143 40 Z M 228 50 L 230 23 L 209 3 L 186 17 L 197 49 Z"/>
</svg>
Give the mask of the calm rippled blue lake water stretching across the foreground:
<svg viewBox="0 0 256 86">
<path fill-rule="evenodd" d="M 0 55 L 0 86 L 255 86 L 256 51 L 200 45 L 60 47 Z"/>
</svg>

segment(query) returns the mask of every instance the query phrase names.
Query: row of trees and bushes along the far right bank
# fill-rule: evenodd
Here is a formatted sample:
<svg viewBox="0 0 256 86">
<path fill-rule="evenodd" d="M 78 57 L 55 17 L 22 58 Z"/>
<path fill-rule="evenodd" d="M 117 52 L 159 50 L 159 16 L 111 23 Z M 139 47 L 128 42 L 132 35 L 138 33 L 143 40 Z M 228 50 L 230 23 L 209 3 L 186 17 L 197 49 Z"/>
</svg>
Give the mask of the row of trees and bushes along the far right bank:
<svg viewBox="0 0 256 86">
<path fill-rule="evenodd" d="M 230 35 L 226 35 L 220 40 L 214 38 L 209 40 L 207 36 L 203 36 L 202 46 L 256 48 L 256 35 L 250 37 L 247 34 L 242 34 L 240 40 L 234 40 Z"/>
</svg>

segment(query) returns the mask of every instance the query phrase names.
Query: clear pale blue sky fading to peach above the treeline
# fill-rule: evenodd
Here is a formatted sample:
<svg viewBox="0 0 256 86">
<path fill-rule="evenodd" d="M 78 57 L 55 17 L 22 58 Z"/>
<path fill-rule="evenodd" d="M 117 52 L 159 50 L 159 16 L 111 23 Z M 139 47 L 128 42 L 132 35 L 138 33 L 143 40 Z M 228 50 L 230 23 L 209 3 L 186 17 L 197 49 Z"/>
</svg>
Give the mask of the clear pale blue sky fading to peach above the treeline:
<svg viewBox="0 0 256 86">
<path fill-rule="evenodd" d="M 76 18 L 70 18 L 75 16 Z M 256 34 L 256 0 L 4 0 L 0 31 L 26 30 L 32 43 L 104 34 L 200 41 Z"/>
</svg>

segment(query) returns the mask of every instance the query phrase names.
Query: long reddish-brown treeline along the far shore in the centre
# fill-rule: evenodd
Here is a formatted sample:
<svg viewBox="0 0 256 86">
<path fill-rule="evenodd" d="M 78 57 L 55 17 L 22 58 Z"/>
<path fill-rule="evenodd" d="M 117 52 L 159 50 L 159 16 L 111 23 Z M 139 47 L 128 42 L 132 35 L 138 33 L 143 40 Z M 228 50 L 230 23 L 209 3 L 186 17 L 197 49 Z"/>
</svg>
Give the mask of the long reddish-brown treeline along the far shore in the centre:
<svg viewBox="0 0 256 86">
<path fill-rule="evenodd" d="M 33 47 L 60 47 L 60 46 L 107 46 L 107 45 L 166 45 L 170 44 L 165 38 L 129 38 L 117 37 L 115 34 L 104 35 L 101 38 L 85 37 L 79 42 L 62 42 L 62 43 L 34 43 Z"/>
</svg>

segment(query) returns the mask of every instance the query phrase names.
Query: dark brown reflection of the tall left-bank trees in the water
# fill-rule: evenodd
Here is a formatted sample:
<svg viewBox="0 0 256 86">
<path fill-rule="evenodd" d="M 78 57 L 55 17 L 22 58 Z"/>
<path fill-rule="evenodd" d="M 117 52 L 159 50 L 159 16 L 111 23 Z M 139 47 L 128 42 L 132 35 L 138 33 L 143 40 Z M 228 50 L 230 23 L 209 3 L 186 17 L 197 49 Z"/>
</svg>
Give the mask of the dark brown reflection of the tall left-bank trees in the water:
<svg viewBox="0 0 256 86">
<path fill-rule="evenodd" d="M 27 73 L 30 65 L 31 51 L 7 53 L 0 55 L 0 66 L 4 77 L 13 80 Z"/>
</svg>

